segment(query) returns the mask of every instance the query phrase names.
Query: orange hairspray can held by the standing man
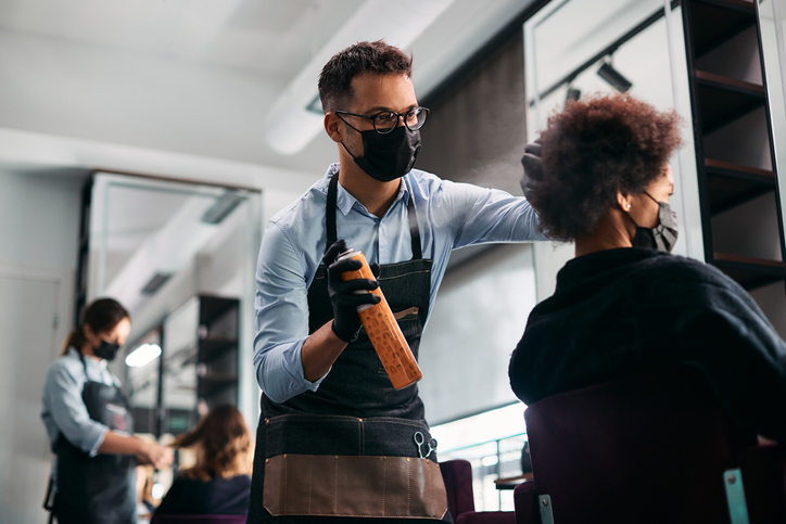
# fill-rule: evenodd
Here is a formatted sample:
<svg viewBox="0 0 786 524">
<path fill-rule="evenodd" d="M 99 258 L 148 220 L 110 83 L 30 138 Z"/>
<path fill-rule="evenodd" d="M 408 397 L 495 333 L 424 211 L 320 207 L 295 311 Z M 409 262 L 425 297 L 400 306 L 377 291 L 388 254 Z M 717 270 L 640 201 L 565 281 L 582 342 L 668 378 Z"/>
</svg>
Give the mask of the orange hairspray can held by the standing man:
<svg viewBox="0 0 786 524">
<path fill-rule="evenodd" d="M 341 273 L 342 280 L 370 279 L 375 280 L 371 268 L 368 267 L 366 257 L 363 253 L 355 250 L 347 250 L 339 256 L 339 260 L 344 258 L 354 258 L 360 260 L 363 266 L 355 271 L 345 271 Z M 384 370 L 390 376 L 393 387 L 401 389 L 419 381 L 423 373 L 418 367 L 417 360 L 409 349 L 407 340 L 404 338 L 398 322 L 393 317 L 388 301 L 384 299 L 382 290 L 377 287 L 372 291 L 358 291 L 357 293 L 373 293 L 381 299 L 379 304 L 364 304 L 357 308 L 357 315 L 360 322 L 366 329 L 371 345 L 373 345 L 379 359 L 382 361 Z"/>
</svg>

